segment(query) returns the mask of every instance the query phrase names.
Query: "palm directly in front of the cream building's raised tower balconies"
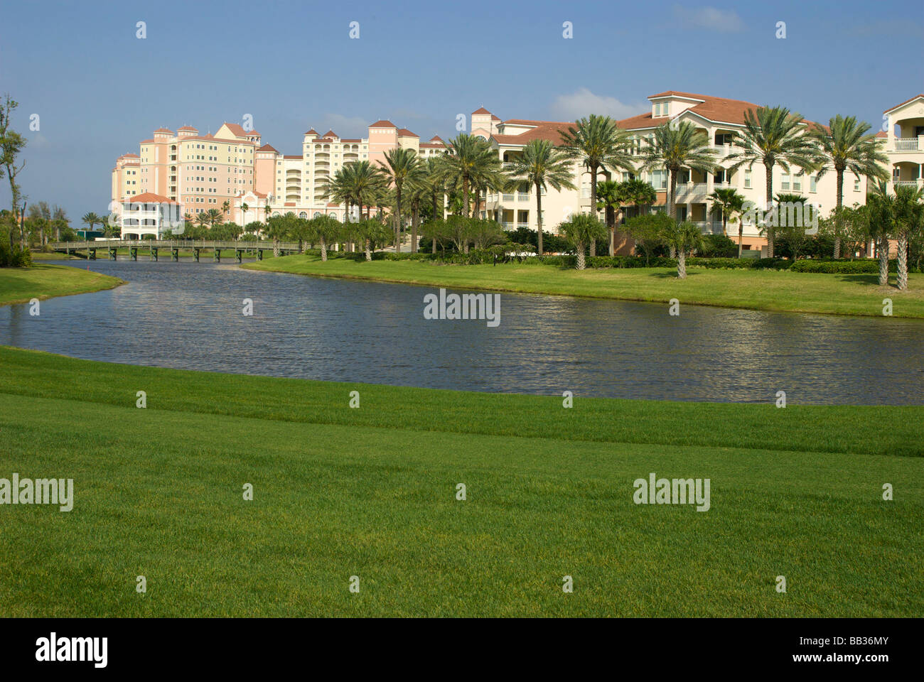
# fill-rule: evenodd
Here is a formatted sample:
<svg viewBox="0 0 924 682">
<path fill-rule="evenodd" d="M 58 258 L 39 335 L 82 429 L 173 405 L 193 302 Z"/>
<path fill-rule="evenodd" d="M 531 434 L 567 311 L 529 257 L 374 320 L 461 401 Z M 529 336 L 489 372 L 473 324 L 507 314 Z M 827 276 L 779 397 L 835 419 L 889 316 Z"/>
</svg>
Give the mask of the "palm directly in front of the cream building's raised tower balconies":
<svg viewBox="0 0 924 682">
<path fill-rule="evenodd" d="M 709 136 L 689 121 L 675 121 L 655 128 L 650 145 L 641 150 L 641 157 L 641 170 L 667 170 L 667 212 L 674 220 L 677 219 L 675 200 L 680 169 L 711 173 L 715 168 L 715 152 L 710 146 Z"/>
</svg>

